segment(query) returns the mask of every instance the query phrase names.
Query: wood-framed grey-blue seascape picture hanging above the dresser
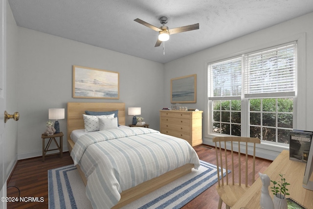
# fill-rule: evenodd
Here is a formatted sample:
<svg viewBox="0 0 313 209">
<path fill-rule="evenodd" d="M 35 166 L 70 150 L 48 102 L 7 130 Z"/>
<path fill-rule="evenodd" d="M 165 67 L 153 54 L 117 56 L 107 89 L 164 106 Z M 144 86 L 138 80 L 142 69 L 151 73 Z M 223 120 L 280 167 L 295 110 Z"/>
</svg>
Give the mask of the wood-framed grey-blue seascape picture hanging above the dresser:
<svg viewBox="0 0 313 209">
<path fill-rule="evenodd" d="M 171 103 L 196 103 L 197 74 L 171 79 Z"/>
</svg>

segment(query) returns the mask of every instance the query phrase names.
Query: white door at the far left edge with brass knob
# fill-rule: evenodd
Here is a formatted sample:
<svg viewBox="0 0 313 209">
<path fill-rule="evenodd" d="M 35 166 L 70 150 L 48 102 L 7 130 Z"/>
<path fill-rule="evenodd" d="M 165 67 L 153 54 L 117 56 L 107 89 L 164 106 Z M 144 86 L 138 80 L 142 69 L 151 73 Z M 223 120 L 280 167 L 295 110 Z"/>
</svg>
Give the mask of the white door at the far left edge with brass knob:
<svg viewBox="0 0 313 209">
<path fill-rule="evenodd" d="M 4 111 L 6 104 L 6 1 L 0 0 L 0 197 L 6 197 L 5 164 L 5 127 Z M 6 209 L 6 203 L 0 202 L 0 209 Z"/>
</svg>

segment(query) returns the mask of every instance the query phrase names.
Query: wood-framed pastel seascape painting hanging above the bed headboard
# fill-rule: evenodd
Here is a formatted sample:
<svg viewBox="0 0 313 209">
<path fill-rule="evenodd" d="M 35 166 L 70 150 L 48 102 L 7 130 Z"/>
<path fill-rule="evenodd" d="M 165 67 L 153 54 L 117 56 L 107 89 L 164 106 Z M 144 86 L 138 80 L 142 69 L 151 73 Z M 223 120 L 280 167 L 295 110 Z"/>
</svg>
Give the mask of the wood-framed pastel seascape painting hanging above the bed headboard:
<svg viewBox="0 0 313 209">
<path fill-rule="evenodd" d="M 119 98 L 119 73 L 73 66 L 74 98 Z"/>
</svg>

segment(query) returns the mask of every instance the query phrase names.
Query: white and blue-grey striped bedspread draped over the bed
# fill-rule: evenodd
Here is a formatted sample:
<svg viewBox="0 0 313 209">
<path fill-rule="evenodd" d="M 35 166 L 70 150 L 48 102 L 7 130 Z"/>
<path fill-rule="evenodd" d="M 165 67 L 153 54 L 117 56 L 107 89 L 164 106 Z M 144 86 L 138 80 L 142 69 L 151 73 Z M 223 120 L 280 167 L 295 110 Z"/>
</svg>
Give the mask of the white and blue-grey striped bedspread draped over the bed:
<svg viewBox="0 0 313 209">
<path fill-rule="evenodd" d="M 141 127 L 90 132 L 77 140 L 71 157 L 87 177 L 86 194 L 94 209 L 112 208 L 123 190 L 186 163 L 200 166 L 187 141 Z"/>
</svg>

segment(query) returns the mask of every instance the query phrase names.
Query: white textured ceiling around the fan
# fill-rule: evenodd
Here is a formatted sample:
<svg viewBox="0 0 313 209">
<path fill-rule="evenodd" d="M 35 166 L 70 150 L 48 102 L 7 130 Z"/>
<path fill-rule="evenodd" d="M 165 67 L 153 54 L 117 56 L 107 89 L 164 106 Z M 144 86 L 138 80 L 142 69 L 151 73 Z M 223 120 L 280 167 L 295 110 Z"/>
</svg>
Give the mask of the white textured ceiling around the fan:
<svg viewBox="0 0 313 209">
<path fill-rule="evenodd" d="M 313 0 L 8 0 L 16 23 L 25 28 L 93 46 L 167 63 L 271 25 L 313 12 Z M 200 29 L 173 34 L 155 47 L 159 18 L 175 28 Z"/>
</svg>

